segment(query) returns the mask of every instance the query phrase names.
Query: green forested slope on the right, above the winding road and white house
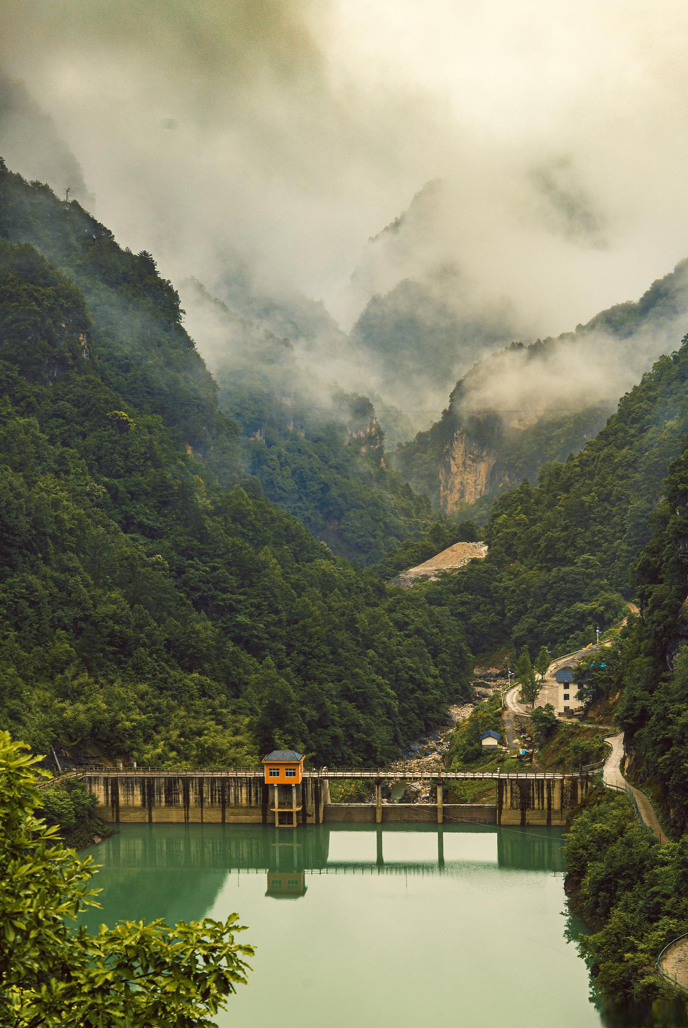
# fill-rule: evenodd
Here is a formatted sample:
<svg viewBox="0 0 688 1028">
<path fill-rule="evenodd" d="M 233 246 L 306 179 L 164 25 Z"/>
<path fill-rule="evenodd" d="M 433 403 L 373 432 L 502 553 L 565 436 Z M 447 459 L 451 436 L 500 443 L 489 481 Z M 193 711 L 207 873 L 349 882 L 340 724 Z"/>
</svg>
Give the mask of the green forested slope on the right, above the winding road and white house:
<svg viewBox="0 0 688 1028">
<path fill-rule="evenodd" d="M 650 540 L 688 432 L 687 380 L 684 342 L 579 453 L 544 465 L 535 488 L 523 482 L 495 503 L 486 558 L 433 590 L 433 602 L 465 623 L 475 653 L 526 642 L 563 653 L 621 615 L 629 567 Z"/>
</svg>

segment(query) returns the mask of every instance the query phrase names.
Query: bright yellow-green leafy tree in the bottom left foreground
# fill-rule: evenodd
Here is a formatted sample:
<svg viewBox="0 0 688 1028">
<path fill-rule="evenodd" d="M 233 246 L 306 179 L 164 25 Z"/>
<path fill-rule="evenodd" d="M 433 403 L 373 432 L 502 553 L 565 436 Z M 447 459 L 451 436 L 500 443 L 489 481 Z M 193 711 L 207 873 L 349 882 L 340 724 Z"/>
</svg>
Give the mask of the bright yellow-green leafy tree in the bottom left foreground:
<svg viewBox="0 0 688 1028">
<path fill-rule="evenodd" d="M 0 732 L 0 1024 L 14 1028 L 209 1025 L 253 948 L 227 920 L 120 921 L 97 935 L 74 925 L 98 907 L 90 857 L 63 849 L 36 816 L 40 771 L 22 742 Z"/>
</svg>

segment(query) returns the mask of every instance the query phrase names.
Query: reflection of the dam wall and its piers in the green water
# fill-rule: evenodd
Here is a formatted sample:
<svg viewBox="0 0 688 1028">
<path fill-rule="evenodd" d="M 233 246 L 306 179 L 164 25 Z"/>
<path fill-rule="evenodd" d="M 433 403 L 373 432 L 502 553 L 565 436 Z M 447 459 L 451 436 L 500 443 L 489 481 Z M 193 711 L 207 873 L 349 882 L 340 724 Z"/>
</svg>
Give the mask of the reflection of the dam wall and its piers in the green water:
<svg viewBox="0 0 688 1028">
<path fill-rule="evenodd" d="M 266 894 L 303 895 L 320 875 L 425 876 L 483 868 L 518 872 L 564 870 L 559 833 L 484 824 L 319 824 L 276 830 L 269 824 L 215 824 L 174 834 L 122 832 L 108 841 L 108 867 L 146 874 L 174 867 L 182 874 L 203 871 L 266 875 Z"/>
</svg>

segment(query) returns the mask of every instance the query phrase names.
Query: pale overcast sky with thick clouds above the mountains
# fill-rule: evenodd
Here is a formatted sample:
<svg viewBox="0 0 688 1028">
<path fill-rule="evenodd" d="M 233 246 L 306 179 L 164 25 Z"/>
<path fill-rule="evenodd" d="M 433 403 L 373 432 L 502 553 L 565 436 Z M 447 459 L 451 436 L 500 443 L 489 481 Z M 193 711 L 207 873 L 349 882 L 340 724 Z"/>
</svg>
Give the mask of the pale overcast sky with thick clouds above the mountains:
<svg viewBox="0 0 688 1028">
<path fill-rule="evenodd" d="M 544 335 L 688 256 L 685 0 L 3 0 L 2 21 L 95 213 L 173 278 L 239 255 L 347 325 L 369 236 L 435 178 L 376 288 L 454 261 Z"/>
</svg>

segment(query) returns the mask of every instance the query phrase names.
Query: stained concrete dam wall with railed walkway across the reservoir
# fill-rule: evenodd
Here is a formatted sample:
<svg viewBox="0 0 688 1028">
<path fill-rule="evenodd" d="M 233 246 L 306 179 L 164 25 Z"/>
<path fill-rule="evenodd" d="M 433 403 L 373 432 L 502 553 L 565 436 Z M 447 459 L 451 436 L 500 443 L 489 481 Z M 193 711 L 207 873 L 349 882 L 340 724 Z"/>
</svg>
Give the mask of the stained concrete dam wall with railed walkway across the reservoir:
<svg viewBox="0 0 688 1028">
<path fill-rule="evenodd" d="M 158 768 L 84 768 L 72 772 L 98 798 L 103 820 L 221 824 L 269 824 L 295 828 L 322 822 L 460 823 L 563 825 L 596 777 L 596 769 L 578 773 L 405 771 L 378 769 L 304 770 L 297 784 L 268 784 L 262 768 L 176 771 Z M 374 803 L 330 803 L 332 779 L 368 779 Z M 444 785 L 457 780 L 492 779 L 494 804 L 447 804 Z M 436 786 L 437 802 L 383 803 L 385 783 L 426 781 Z"/>
</svg>

